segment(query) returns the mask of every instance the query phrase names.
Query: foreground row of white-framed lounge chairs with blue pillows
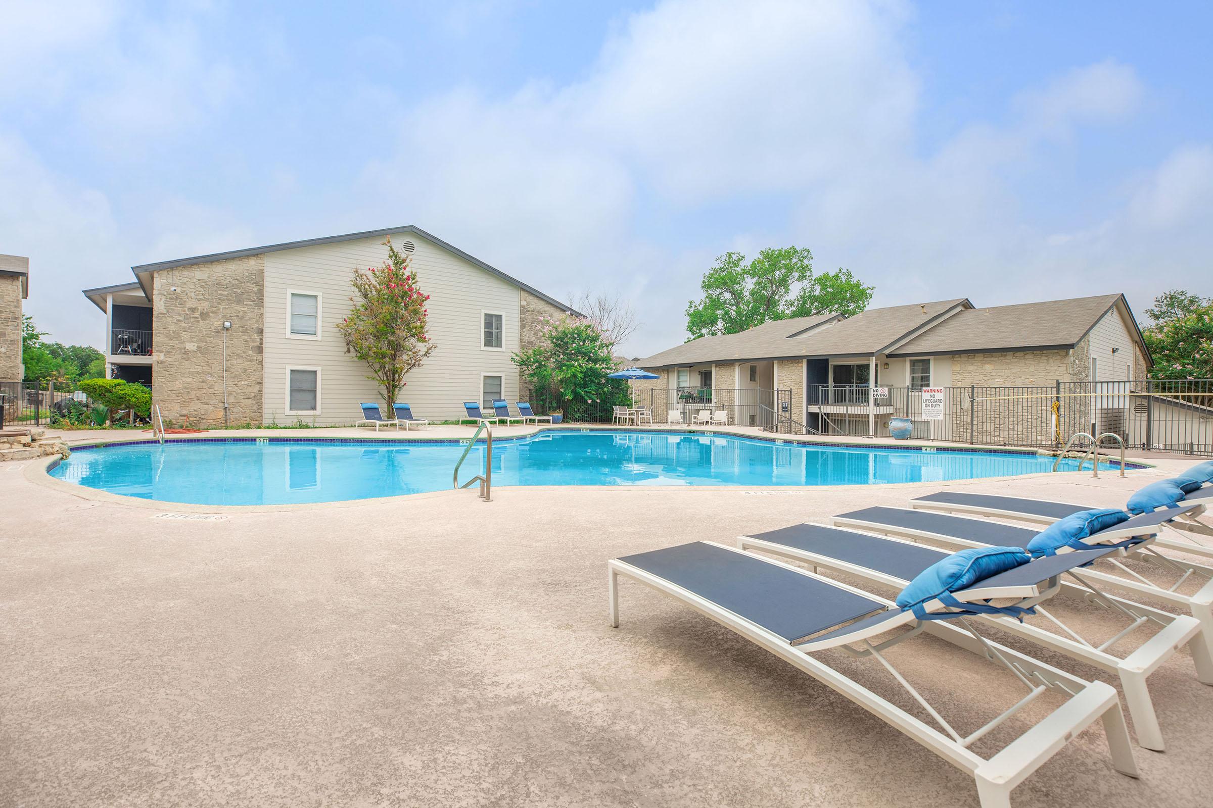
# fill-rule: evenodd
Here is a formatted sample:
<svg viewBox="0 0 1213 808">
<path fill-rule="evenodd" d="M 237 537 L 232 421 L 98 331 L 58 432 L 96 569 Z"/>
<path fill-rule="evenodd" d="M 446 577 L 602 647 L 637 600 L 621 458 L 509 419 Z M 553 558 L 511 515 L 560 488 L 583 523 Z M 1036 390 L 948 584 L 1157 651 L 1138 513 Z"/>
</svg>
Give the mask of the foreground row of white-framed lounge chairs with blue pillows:
<svg viewBox="0 0 1213 808">
<path fill-rule="evenodd" d="M 1211 483 L 1213 463 L 1200 464 L 1175 480 L 1154 483 L 1134 494 L 1128 505 L 1133 514 L 1117 509 L 1072 510 L 1080 506 L 1010 502 L 1012 498 L 1002 497 L 979 500 L 972 494 L 933 494 L 915 500 L 915 510 L 867 508 L 833 517 L 833 526 L 796 525 L 740 537 L 739 548 L 695 541 L 615 558 L 608 562 L 610 623 L 619 625 L 620 577 L 671 595 L 970 772 L 981 804 L 1004 808 L 1010 804 L 1015 785 L 1097 718 L 1103 721 L 1116 770 L 1129 777 L 1138 777 L 1138 770 L 1120 699 L 1111 686 L 1087 682 L 986 640 L 976 632 L 974 621 L 996 625 L 1015 637 L 1117 674 L 1139 743 L 1162 751 L 1162 733 L 1146 677 L 1186 646 L 1197 680 L 1213 684 L 1209 641 L 1213 568 L 1162 555 L 1160 549 L 1191 554 L 1192 548 L 1197 548 L 1196 555 L 1203 555 L 1200 550 L 1207 548 L 1195 539 L 1174 546 L 1175 540 L 1160 539 L 1160 534 L 1172 529 L 1186 535 L 1213 535 L 1213 528 L 1200 521 L 1213 504 Z M 1036 515 L 1036 521 L 1049 527 L 1035 532 L 922 510 L 939 505 L 1016 520 L 1025 518 L 1025 514 Z M 907 538 L 964 549 L 947 552 L 913 544 Z M 767 556 L 809 565 L 811 572 Z M 1151 583 L 1127 568 L 1122 558 L 1149 560 L 1178 575 L 1179 581 L 1171 586 Z M 872 585 L 900 589 L 900 594 L 895 601 L 888 601 L 826 578 L 820 574 L 822 568 Z M 1124 575 L 1112 574 L 1109 568 Z M 1178 594 L 1179 584 L 1192 577 L 1205 581 L 1198 584 L 1198 591 Z M 1190 611 L 1191 615 L 1107 595 L 1101 588 L 1131 597 L 1150 597 Z M 1059 596 L 1086 598 L 1103 606 L 1110 620 L 1127 625 L 1099 644 L 1087 641 L 1042 606 Z M 1029 617 L 1044 619 L 1027 623 Z M 1132 641 L 1132 635 L 1146 625 L 1157 631 Z M 1026 693 L 986 724 L 962 734 L 883 653 L 919 632 L 1009 670 Z M 1114 646 L 1127 653 L 1120 655 Z M 814 655 L 826 649 L 875 659 L 926 710 L 930 722 Z M 951 678 L 943 664 L 939 678 L 941 682 Z M 972 751 L 978 739 L 1046 690 L 1064 695 L 1061 706 L 991 757 Z M 983 697 L 986 695 L 983 690 Z M 1015 698 L 1001 694 L 992 680 L 989 695 L 1002 701 Z"/>
</svg>

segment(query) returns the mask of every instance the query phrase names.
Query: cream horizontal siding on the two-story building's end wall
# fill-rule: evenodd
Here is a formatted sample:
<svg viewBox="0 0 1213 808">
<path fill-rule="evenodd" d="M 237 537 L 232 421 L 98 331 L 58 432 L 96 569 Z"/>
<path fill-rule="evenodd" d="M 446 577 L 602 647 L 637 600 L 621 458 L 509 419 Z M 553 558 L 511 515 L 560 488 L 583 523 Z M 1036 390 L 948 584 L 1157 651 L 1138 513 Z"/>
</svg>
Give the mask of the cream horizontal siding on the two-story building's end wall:
<svg viewBox="0 0 1213 808">
<path fill-rule="evenodd" d="M 454 419 L 462 401 L 480 399 L 484 373 L 503 377 L 505 395 L 518 395 L 518 369 L 509 361 L 518 350 L 519 290 L 479 267 L 452 256 L 415 234 L 393 239 L 416 243 L 412 269 L 429 296 L 429 336 L 437 349 L 426 363 L 405 377 L 400 400 L 418 418 Z M 382 237 L 343 241 L 266 254 L 266 423 L 352 424 L 361 417 L 358 405 L 378 401 L 368 368 L 346 354 L 336 329 L 349 311 L 349 279 L 355 268 L 378 267 L 387 258 Z M 287 291 L 321 296 L 320 339 L 290 338 Z M 482 311 L 503 315 L 503 348 L 482 349 Z M 320 414 L 287 416 L 286 368 L 320 368 Z M 382 406 L 382 402 L 380 402 Z M 385 413 L 387 416 L 387 413 Z"/>
</svg>

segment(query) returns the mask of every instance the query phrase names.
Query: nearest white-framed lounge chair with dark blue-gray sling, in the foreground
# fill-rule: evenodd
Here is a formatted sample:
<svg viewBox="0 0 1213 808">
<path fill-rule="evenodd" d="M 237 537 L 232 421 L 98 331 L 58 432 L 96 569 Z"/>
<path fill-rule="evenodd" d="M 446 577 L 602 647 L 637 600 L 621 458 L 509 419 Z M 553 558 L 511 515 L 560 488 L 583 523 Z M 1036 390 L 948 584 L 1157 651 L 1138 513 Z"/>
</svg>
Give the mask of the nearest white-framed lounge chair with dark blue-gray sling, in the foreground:
<svg viewBox="0 0 1213 808">
<path fill-rule="evenodd" d="M 1107 554 L 1114 550 L 1090 552 Z M 1031 608 L 1057 591 L 1058 577 L 1063 572 L 1082 562 L 1075 558 L 1075 554 L 1030 561 L 979 580 L 961 581 L 962 586 L 955 591 L 941 592 L 913 607 L 899 608 L 884 598 L 778 561 L 735 548 L 694 541 L 609 561 L 610 624 L 619 625 L 620 578 L 651 586 L 791 663 L 952 766 L 969 772 L 976 783 L 983 808 L 1008 808 L 1012 789 L 1097 720 L 1104 723 L 1116 770 L 1138 777 L 1115 688 L 1103 682 L 1086 682 L 990 642 L 963 619 L 972 613 L 970 609 L 991 608 L 987 606 L 991 598 L 1010 598 L 1016 603 L 1012 608 Z M 947 606 L 945 601 L 957 606 Z M 952 625 L 952 618 L 956 618 L 956 625 Z M 888 637 L 890 631 L 898 634 Z M 1004 703 L 1016 695 L 1001 699 L 997 706 L 991 705 L 996 717 L 962 734 L 896 672 L 883 654 L 890 646 L 921 631 L 1009 670 L 1026 695 L 1010 704 L 1009 709 Z M 877 636 L 883 638 L 877 641 Z M 934 723 L 877 695 L 814 655 L 832 648 L 842 648 L 861 658 L 875 658 L 896 677 Z M 939 667 L 939 676 L 946 681 L 946 667 Z M 1049 689 L 1065 697 L 1061 706 L 989 758 L 970 749 L 973 741 L 1003 724 L 1006 718 Z M 989 693 L 997 694 L 1000 689 L 992 686 Z M 876 753 L 856 763 L 878 769 L 881 756 Z"/>
</svg>

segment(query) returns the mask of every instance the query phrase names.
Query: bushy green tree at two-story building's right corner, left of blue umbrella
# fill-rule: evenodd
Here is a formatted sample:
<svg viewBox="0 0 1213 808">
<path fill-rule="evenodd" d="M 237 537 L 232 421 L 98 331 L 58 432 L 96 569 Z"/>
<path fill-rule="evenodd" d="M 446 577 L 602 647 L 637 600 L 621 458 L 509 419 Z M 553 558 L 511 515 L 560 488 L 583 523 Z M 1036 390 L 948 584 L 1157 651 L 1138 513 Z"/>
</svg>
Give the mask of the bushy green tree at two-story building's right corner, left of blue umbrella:
<svg viewBox="0 0 1213 808">
<path fill-rule="evenodd" d="M 540 407 L 560 408 L 569 420 L 588 420 L 628 401 L 627 383 L 614 373 L 611 339 L 592 321 L 546 317 L 542 343 L 513 355 Z"/>
</svg>

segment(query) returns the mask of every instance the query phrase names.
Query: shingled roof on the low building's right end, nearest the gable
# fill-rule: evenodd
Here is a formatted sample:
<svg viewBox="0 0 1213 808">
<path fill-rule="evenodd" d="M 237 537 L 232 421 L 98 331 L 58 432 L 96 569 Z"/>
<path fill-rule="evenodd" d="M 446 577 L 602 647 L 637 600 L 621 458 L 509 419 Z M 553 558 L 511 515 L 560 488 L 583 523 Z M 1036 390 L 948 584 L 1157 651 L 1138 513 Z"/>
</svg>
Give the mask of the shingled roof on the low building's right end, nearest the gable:
<svg viewBox="0 0 1213 808">
<path fill-rule="evenodd" d="M 1121 299 L 1120 294 L 1099 294 L 958 311 L 898 345 L 889 356 L 1069 349 Z"/>
</svg>

